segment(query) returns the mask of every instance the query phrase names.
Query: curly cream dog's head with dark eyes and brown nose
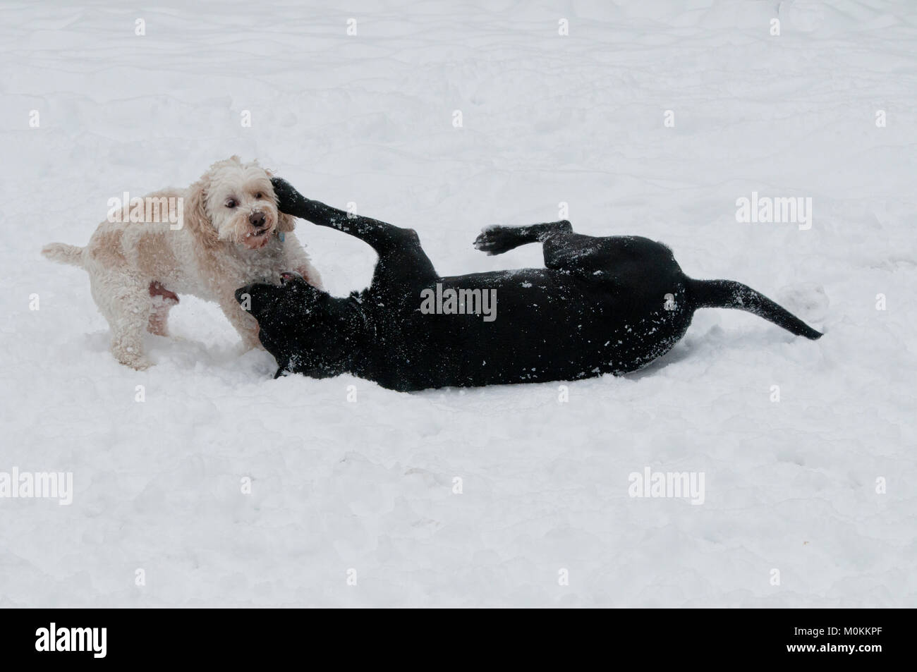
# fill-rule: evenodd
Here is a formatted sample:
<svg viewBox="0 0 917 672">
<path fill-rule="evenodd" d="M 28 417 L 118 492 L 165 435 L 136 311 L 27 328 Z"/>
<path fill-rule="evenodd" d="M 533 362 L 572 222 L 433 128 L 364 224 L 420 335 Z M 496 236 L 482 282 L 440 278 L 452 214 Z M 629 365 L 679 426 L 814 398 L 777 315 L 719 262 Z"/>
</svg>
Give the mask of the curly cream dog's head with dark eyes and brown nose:
<svg viewBox="0 0 917 672">
<path fill-rule="evenodd" d="M 189 189 L 185 222 L 204 247 L 220 242 L 263 248 L 275 231 L 293 231 L 293 217 L 277 210 L 271 173 L 258 161 L 217 161 Z"/>
</svg>

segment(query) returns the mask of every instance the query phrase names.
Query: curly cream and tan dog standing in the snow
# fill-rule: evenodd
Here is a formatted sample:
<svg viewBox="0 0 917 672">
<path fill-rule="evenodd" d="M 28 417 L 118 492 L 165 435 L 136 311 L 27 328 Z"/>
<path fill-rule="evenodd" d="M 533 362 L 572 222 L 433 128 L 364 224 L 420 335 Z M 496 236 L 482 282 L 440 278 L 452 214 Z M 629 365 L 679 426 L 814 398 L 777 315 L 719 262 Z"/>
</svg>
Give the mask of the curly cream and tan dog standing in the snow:
<svg viewBox="0 0 917 672">
<path fill-rule="evenodd" d="M 103 222 L 85 248 L 52 243 L 41 250 L 89 273 L 95 303 L 111 327 L 112 354 L 122 364 L 149 366 L 143 332 L 168 335 L 169 310 L 178 294 L 219 303 L 242 342 L 259 347 L 258 323 L 236 301 L 239 287 L 279 283 L 281 273 L 291 270 L 321 287 L 318 271 L 293 236 L 293 217 L 277 210 L 271 174 L 257 161 L 242 163 L 235 156 L 217 161 L 188 189 L 166 189 L 150 198 L 168 199 L 171 216 L 130 221 L 124 204 L 121 221 Z M 176 219 L 180 225 L 173 228 Z"/>
</svg>

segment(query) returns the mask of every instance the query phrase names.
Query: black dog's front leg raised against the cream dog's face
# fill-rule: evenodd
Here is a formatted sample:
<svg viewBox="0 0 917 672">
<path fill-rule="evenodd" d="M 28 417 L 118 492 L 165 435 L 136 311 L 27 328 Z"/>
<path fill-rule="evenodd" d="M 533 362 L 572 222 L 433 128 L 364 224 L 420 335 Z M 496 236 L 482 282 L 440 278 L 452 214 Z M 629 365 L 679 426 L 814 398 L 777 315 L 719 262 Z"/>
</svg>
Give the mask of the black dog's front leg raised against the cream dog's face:
<svg viewBox="0 0 917 672">
<path fill-rule="evenodd" d="M 279 177 L 271 178 L 277 207 L 288 215 L 308 220 L 318 226 L 328 226 L 353 237 L 358 237 L 379 253 L 380 271 L 390 273 L 399 267 L 411 277 L 436 277 L 433 263 L 420 247 L 420 238 L 413 228 L 402 228 L 378 219 L 355 215 L 335 207 L 313 201 L 296 191 L 290 182 Z"/>
</svg>

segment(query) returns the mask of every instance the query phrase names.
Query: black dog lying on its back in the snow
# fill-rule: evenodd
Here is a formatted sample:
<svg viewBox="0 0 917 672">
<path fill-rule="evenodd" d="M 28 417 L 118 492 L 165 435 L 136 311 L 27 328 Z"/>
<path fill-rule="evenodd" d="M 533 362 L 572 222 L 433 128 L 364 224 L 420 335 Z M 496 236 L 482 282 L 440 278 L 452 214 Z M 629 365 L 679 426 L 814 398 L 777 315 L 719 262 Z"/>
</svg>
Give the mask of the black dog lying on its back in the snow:
<svg viewBox="0 0 917 672">
<path fill-rule="evenodd" d="M 280 369 L 314 378 L 352 373 L 399 391 L 577 380 L 621 374 L 675 345 L 698 308 L 738 308 L 797 336 L 822 336 L 734 281 L 691 280 L 671 250 L 644 237 L 591 237 L 567 221 L 493 226 L 488 254 L 540 242 L 545 269 L 443 278 L 416 232 L 304 198 L 274 179 L 284 213 L 331 226 L 379 253 L 370 287 L 337 299 L 302 278 L 255 283 L 236 298 L 260 325 Z"/>
</svg>

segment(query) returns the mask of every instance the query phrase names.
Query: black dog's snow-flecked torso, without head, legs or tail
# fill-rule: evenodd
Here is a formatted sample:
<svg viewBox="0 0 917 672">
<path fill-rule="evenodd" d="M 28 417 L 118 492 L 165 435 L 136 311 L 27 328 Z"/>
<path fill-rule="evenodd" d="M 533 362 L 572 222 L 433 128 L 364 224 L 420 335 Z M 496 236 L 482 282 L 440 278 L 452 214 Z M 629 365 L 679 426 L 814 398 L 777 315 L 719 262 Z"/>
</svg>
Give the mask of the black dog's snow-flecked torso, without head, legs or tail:
<svg viewBox="0 0 917 672">
<path fill-rule="evenodd" d="M 481 303 L 490 292 L 490 313 L 468 310 L 474 291 Z M 450 304 L 459 292 L 466 305 Z M 404 391 L 624 373 L 668 351 L 691 323 L 684 285 L 670 278 L 626 286 L 554 270 L 477 273 L 438 279 L 401 302 L 368 377 Z"/>
</svg>

